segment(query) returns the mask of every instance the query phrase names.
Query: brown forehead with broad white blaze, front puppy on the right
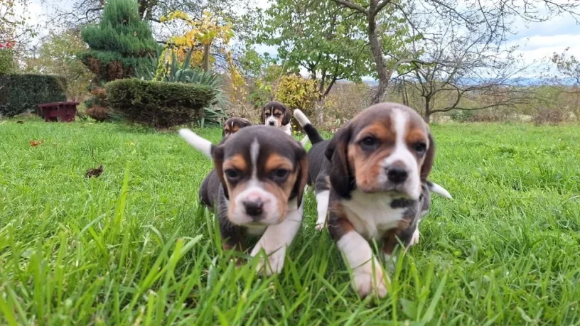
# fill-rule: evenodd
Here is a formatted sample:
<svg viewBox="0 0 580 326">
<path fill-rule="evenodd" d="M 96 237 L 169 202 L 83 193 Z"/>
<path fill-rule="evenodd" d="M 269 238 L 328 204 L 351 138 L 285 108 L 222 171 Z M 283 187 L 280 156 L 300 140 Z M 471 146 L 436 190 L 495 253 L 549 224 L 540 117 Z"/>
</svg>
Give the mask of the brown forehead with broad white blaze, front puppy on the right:
<svg viewBox="0 0 580 326">
<path fill-rule="evenodd" d="M 421 129 L 426 131 L 423 119 L 413 109 L 402 104 L 385 102 L 367 107 L 353 118 L 353 135 L 363 131 L 367 126 L 377 124 L 396 132 L 395 125 L 402 122 L 404 122 L 406 130 Z"/>
</svg>

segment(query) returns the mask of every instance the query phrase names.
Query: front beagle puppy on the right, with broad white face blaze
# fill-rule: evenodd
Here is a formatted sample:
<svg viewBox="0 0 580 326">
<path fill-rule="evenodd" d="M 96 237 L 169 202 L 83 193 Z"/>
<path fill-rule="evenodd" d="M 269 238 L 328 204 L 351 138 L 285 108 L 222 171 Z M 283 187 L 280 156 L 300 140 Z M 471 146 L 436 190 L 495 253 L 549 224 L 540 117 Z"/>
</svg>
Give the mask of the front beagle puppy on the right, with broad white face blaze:
<svg viewBox="0 0 580 326">
<path fill-rule="evenodd" d="M 328 232 L 352 268 L 353 287 L 361 297 L 382 298 L 387 276 L 368 241 L 382 241 L 388 261 L 399 241 L 405 250 L 419 241 L 429 191 L 451 197 L 427 180 L 435 154 L 429 126 L 409 107 L 381 103 L 323 141 L 304 114 L 294 115 L 313 143 L 308 178 L 315 185 L 317 224 L 328 209 Z"/>
</svg>

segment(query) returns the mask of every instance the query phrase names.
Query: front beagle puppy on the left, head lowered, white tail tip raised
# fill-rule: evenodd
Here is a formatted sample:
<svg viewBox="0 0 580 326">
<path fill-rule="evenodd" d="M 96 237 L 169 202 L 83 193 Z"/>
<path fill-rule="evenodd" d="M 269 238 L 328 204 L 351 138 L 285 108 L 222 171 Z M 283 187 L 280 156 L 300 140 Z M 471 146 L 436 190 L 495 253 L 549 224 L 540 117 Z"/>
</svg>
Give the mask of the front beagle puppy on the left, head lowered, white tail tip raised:
<svg viewBox="0 0 580 326">
<path fill-rule="evenodd" d="M 308 161 L 301 144 L 268 126 L 240 129 L 215 146 L 188 129 L 179 134 L 213 157 L 218 189 L 218 219 L 224 249 L 245 251 L 247 238 L 260 236 L 251 251 L 262 250 L 258 271 L 271 275 L 284 266 L 286 247 L 300 229 Z"/>
</svg>

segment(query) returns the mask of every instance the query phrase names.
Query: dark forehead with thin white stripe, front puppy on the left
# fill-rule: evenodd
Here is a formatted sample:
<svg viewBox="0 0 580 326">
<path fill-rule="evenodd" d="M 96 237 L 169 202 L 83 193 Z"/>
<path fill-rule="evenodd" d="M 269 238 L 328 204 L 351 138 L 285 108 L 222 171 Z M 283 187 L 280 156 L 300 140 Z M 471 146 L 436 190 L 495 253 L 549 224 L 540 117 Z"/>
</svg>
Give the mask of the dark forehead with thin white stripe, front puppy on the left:
<svg viewBox="0 0 580 326">
<path fill-rule="evenodd" d="M 263 164 L 263 160 L 272 154 L 289 158 L 294 161 L 296 157 L 295 147 L 298 146 L 294 138 L 269 126 L 247 126 L 237 131 L 231 141 L 225 145 L 225 157 L 242 154 L 248 163 L 257 156 L 257 164 Z"/>
</svg>

